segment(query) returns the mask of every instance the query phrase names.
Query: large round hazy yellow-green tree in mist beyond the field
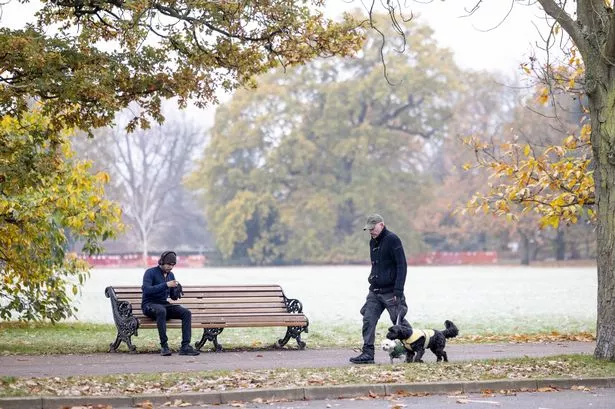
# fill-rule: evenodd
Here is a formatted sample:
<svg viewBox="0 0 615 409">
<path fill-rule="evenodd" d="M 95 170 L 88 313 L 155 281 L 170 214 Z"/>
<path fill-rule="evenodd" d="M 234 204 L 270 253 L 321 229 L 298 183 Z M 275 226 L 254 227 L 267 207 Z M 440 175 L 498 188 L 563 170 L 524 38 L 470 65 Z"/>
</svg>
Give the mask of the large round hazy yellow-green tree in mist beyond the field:
<svg viewBox="0 0 615 409">
<path fill-rule="evenodd" d="M 429 28 L 408 26 L 413 47 L 320 60 L 259 79 L 217 110 L 190 185 L 201 189 L 217 244 L 245 263 L 364 260 L 365 214 L 406 229 L 427 200 L 423 174 L 447 131 L 463 77 Z M 403 226 L 403 228 L 402 228 Z"/>
</svg>

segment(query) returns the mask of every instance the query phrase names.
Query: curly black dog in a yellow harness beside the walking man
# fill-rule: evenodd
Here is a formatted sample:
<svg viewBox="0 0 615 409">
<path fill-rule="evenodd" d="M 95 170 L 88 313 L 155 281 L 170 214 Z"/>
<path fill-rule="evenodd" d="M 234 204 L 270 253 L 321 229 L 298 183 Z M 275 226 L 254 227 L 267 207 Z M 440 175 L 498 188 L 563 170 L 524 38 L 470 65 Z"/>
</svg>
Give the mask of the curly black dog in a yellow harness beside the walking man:
<svg viewBox="0 0 615 409">
<path fill-rule="evenodd" d="M 399 339 L 406 349 L 406 362 L 423 362 L 425 349 L 430 349 L 436 355 L 437 361 L 448 362 L 448 357 L 444 351 L 447 338 L 454 338 L 459 334 L 459 330 L 452 321 L 444 321 L 446 327 L 443 331 L 435 329 L 421 330 L 412 329 L 405 325 L 393 325 L 389 328 L 387 338 Z M 414 354 L 416 353 L 416 357 Z"/>
</svg>

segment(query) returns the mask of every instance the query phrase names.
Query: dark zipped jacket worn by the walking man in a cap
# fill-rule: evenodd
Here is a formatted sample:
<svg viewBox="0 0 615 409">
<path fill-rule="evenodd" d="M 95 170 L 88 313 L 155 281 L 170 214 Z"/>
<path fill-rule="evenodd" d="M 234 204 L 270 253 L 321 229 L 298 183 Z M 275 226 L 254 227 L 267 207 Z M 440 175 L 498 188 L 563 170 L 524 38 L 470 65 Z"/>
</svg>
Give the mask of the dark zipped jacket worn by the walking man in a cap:
<svg viewBox="0 0 615 409">
<path fill-rule="evenodd" d="M 369 289 L 380 293 L 392 291 L 397 297 L 404 294 L 406 284 L 406 254 L 401 240 L 386 227 L 375 239 L 369 241 L 372 271 Z"/>
</svg>

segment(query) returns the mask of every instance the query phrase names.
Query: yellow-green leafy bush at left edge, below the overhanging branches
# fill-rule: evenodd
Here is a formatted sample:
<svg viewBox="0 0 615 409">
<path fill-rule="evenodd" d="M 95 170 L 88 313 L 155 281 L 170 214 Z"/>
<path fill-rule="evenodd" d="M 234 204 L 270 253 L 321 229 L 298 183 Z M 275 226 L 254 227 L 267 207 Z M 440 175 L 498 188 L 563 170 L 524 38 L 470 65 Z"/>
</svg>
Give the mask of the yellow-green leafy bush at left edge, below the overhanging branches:
<svg viewBox="0 0 615 409">
<path fill-rule="evenodd" d="M 40 112 L 0 120 L 2 319 L 71 316 L 69 289 L 77 293 L 89 266 L 66 254 L 67 236 L 94 254 L 121 227 L 120 209 L 102 199 L 105 176 L 71 155 L 66 133 Z"/>
</svg>

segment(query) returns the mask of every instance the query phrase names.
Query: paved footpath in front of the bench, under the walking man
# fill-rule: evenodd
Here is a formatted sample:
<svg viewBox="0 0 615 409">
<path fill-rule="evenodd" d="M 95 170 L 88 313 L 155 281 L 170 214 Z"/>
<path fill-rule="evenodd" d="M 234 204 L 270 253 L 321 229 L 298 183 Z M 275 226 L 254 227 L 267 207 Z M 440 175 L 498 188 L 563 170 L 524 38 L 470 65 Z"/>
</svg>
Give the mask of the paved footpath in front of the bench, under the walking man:
<svg viewBox="0 0 615 409">
<path fill-rule="evenodd" d="M 561 354 L 592 354 L 593 342 L 557 342 L 532 344 L 450 344 L 446 351 L 450 361 L 492 358 L 541 357 Z M 107 375 L 152 372 L 191 372 L 207 370 L 253 370 L 269 368 L 326 368 L 351 365 L 348 358 L 357 355 L 352 349 L 294 349 L 266 351 L 205 351 L 196 357 L 161 357 L 154 353 L 100 353 L 87 355 L 0 356 L 0 376 L 47 377 Z M 435 361 L 427 351 L 427 362 Z M 377 351 L 376 362 L 388 364 L 389 358 Z"/>
</svg>

